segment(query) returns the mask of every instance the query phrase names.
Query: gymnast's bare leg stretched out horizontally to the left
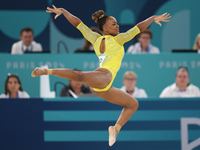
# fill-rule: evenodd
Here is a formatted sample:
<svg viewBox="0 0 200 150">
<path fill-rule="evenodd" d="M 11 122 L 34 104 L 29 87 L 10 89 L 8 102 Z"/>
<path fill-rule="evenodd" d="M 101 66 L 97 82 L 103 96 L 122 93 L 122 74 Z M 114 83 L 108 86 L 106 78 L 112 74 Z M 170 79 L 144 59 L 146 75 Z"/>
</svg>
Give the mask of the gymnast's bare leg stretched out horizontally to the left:
<svg viewBox="0 0 200 150">
<path fill-rule="evenodd" d="M 98 68 L 94 71 L 74 71 L 71 69 L 45 69 L 36 68 L 32 72 L 32 77 L 41 75 L 54 75 L 61 78 L 70 79 L 76 82 L 80 82 L 92 88 L 103 89 L 112 80 L 112 73 L 104 68 Z"/>
</svg>

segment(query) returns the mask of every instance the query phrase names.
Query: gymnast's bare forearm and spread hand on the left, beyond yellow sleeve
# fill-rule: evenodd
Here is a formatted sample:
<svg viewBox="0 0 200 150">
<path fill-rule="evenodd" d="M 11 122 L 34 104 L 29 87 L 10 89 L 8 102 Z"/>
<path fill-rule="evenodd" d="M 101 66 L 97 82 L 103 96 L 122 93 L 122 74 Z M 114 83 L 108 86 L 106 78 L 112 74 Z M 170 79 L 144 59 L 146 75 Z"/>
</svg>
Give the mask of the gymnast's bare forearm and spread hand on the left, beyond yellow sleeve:
<svg viewBox="0 0 200 150">
<path fill-rule="evenodd" d="M 47 7 L 47 10 L 46 12 L 49 12 L 49 13 L 55 13 L 56 16 L 55 16 L 55 19 L 60 16 L 61 14 L 63 14 L 65 16 L 65 18 L 74 26 L 74 27 L 77 27 L 80 23 L 81 23 L 81 20 L 72 15 L 70 12 L 68 12 L 67 10 L 65 10 L 64 8 L 56 8 L 54 5 L 53 6 L 53 9 L 52 8 L 49 8 Z"/>
</svg>

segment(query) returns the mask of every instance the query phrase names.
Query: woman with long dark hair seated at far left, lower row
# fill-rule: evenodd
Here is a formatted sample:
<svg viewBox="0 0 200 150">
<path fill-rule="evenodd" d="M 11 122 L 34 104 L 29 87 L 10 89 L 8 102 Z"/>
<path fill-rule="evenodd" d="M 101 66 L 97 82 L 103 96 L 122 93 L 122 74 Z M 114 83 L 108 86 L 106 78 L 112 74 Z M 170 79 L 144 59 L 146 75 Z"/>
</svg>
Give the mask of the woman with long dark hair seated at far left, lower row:
<svg viewBox="0 0 200 150">
<path fill-rule="evenodd" d="M 0 95 L 0 98 L 30 98 L 30 96 L 23 91 L 17 75 L 8 75 L 5 81 L 5 92 Z"/>
</svg>

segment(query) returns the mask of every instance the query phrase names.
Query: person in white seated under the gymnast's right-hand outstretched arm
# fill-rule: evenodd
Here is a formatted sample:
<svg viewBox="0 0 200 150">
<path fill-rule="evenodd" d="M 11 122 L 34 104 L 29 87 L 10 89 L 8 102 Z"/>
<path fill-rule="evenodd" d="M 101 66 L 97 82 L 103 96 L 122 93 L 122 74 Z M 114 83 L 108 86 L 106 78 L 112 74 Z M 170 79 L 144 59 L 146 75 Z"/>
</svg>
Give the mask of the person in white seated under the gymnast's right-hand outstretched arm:
<svg viewBox="0 0 200 150">
<path fill-rule="evenodd" d="M 135 45 L 129 46 L 127 53 L 140 54 L 140 53 L 160 53 L 159 49 L 151 45 L 152 33 L 149 29 L 144 30 L 137 36 L 138 42 Z"/>
</svg>

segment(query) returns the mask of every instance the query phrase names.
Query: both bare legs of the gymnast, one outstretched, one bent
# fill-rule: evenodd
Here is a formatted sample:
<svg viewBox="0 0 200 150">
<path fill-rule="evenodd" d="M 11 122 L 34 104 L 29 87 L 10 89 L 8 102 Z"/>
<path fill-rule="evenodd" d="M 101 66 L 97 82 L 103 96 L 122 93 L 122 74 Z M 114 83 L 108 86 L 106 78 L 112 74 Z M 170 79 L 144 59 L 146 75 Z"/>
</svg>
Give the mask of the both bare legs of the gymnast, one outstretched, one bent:
<svg viewBox="0 0 200 150">
<path fill-rule="evenodd" d="M 32 77 L 47 74 L 81 82 L 85 85 L 98 89 L 105 88 L 112 80 L 111 72 L 104 68 L 98 68 L 97 70 L 91 72 L 74 71 L 71 69 L 36 68 L 32 72 Z M 109 127 L 109 145 L 112 146 L 115 143 L 117 134 L 121 127 L 137 110 L 138 102 L 129 94 L 114 87 L 111 87 L 108 91 L 97 92 L 97 95 L 110 103 L 121 105 L 124 107 L 116 122 L 116 125 Z"/>
</svg>

